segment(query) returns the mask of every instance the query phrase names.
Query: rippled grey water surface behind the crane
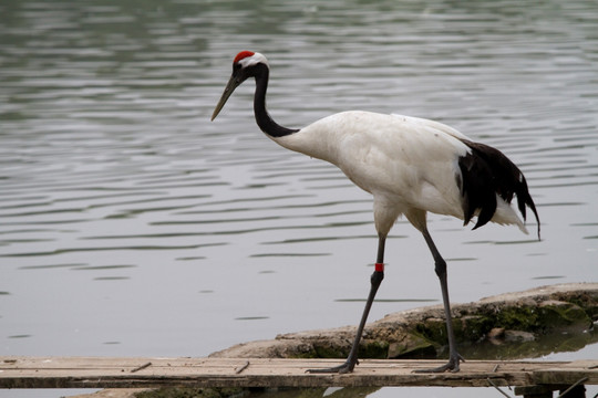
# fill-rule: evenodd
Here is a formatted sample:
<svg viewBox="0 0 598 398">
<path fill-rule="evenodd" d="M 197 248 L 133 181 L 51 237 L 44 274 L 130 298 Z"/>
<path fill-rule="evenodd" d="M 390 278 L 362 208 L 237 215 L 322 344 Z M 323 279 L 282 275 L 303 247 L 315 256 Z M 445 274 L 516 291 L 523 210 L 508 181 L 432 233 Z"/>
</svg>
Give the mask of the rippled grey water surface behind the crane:
<svg viewBox="0 0 598 398">
<path fill-rule="evenodd" d="M 368 195 L 265 138 L 249 84 L 209 123 L 244 49 L 285 125 L 410 114 L 520 166 L 542 242 L 430 218 L 454 301 L 596 281 L 597 23 L 584 0 L 0 4 L 1 353 L 207 355 L 357 322 Z M 440 300 L 404 221 L 388 251 L 372 318 Z"/>
</svg>

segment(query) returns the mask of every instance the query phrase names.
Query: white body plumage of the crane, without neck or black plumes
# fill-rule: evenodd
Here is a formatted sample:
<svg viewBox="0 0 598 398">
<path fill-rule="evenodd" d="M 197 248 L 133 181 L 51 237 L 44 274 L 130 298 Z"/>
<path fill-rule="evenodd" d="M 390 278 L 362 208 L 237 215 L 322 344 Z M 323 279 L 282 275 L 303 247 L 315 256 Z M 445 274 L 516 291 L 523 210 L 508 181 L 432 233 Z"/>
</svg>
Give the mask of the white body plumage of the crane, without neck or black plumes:
<svg viewBox="0 0 598 398">
<path fill-rule="evenodd" d="M 282 137 L 269 136 L 285 148 L 329 161 L 374 197 L 377 230 L 388 233 L 405 214 L 419 230 L 425 211 L 464 219 L 458 158 L 471 153 L 466 136 L 424 118 L 362 111 L 338 113 Z M 517 224 L 509 203 L 496 195 L 491 221 Z M 422 219 L 423 217 L 423 219 Z"/>
</svg>

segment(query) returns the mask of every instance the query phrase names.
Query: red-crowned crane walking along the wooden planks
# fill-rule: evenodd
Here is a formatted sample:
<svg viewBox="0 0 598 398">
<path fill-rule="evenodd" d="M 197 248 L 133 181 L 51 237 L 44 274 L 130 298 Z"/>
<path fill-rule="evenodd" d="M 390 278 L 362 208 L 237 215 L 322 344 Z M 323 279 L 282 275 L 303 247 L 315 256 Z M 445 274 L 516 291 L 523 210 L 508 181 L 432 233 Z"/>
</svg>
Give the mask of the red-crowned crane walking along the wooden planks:
<svg viewBox="0 0 598 398">
<path fill-rule="evenodd" d="M 384 279 L 386 237 L 404 216 L 423 235 L 440 280 L 446 332 L 446 364 L 416 371 L 458 371 L 465 359 L 457 352 L 448 298 L 446 261 L 432 240 L 427 212 L 452 216 L 473 229 L 488 222 L 517 226 L 524 233 L 526 207 L 540 221 L 527 181 L 519 168 L 502 151 L 470 139 L 440 122 L 396 114 L 347 111 L 316 121 L 302 128 L 277 124 L 266 108 L 270 66 L 259 52 L 241 51 L 233 61 L 233 73 L 218 101 L 212 121 L 218 116 L 236 87 L 252 77 L 256 83 L 254 114 L 258 127 L 278 145 L 337 166 L 355 186 L 373 197 L 373 222 L 378 252 L 370 277 L 370 293 L 351 350 L 339 366 L 308 369 L 308 373 L 353 371 L 370 308 Z M 512 201 L 516 197 L 517 214 Z M 522 220 L 523 218 L 523 220 Z"/>
</svg>

